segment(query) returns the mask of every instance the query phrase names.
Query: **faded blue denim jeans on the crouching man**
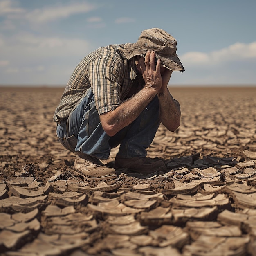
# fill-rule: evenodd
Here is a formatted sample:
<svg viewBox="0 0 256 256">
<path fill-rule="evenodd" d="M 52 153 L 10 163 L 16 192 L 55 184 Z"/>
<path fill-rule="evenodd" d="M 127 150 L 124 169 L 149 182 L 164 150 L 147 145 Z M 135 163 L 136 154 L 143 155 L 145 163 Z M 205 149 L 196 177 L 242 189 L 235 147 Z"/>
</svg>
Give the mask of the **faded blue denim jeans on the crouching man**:
<svg viewBox="0 0 256 256">
<path fill-rule="evenodd" d="M 61 144 L 72 152 L 82 152 L 98 159 L 108 159 L 111 148 L 120 144 L 118 155 L 124 158 L 146 157 L 160 125 L 157 96 L 130 125 L 110 137 L 103 130 L 89 89 L 72 109 L 68 119 L 57 125 Z"/>
</svg>

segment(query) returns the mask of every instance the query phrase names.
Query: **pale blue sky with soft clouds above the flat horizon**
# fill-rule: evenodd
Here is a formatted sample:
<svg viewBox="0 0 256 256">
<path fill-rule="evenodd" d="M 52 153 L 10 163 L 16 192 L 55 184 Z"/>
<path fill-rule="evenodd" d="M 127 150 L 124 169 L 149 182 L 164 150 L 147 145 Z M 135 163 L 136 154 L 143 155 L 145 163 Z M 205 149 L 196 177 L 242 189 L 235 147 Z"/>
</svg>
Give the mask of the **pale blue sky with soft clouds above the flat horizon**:
<svg viewBox="0 0 256 256">
<path fill-rule="evenodd" d="M 169 85 L 256 85 L 255 0 L 0 0 L 0 85 L 65 86 L 102 46 L 144 29 L 177 40 Z"/>
</svg>

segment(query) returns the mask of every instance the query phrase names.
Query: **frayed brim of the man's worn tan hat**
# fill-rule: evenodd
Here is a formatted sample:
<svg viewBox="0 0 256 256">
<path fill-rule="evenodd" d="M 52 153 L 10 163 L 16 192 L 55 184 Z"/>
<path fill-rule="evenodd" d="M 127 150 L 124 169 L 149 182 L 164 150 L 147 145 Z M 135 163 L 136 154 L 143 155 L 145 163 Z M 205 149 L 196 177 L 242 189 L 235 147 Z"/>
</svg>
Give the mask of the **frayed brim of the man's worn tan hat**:
<svg viewBox="0 0 256 256">
<path fill-rule="evenodd" d="M 126 43 L 124 45 L 124 54 L 128 60 L 136 55 L 145 57 L 147 50 L 148 49 L 140 48 L 137 43 Z M 181 72 L 185 71 L 177 54 L 166 57 L 155 53 L 155 56 L 159 58 L 161 60 L 161 64 L 169 70 Z"/>
</svg>

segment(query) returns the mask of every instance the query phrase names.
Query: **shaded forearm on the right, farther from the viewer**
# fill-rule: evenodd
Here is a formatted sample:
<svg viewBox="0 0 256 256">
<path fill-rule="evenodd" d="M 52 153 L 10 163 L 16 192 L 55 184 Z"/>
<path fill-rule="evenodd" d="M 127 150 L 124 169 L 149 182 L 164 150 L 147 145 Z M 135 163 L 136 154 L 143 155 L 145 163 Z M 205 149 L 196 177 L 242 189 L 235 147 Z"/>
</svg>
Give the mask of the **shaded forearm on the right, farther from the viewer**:
<svg viewBox="0 0 256 256">
<path fill-rule="evenodd" d="M 168 88 L 157 94 L 159 99 L 160 120 L 171 132 L 180 126 L 180 104 L 173 99 Z"/>
</svg>

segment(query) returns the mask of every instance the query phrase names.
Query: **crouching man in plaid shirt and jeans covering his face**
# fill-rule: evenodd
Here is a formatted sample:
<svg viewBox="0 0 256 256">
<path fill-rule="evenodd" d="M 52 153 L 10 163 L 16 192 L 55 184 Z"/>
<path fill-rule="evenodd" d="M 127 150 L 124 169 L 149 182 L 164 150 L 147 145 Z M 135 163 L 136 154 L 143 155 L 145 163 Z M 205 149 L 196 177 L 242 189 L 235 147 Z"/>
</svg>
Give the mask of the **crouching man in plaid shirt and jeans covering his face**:
<svg viewBox="0 0 256 256">
<path fill-rule="evenodd" d="M 180 125 L 180 105 L 167 88 L 172 72 L 184 71 L 176 45 L 166 31 L 147 29 L 137 43 L 101 47 L 77 65 L 54 114 L 58 139 L 77 155 L 76 173 L 103 180 L 122 168 L 165 170 L 146 148 L 161 122 L 170 131 Z M 114 168 L 103 165 L 118 145 Z"/>
</svg>

